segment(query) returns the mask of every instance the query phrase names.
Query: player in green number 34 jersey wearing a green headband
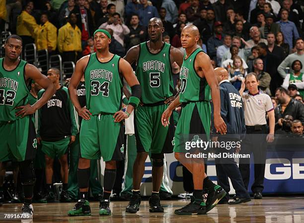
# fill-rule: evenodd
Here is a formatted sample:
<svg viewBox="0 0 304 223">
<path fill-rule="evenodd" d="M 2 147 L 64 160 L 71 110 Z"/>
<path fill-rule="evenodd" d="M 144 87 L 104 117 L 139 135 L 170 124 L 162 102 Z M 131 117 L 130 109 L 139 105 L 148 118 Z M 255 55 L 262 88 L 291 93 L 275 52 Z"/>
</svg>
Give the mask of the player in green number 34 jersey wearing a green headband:
<svg viewBox="0 0 304 223">
<path fill-rule="evenodd" d="M 115 182 L 116 161 L 123 158 L 123 125 L 121 121 L 140 103 L 141 89 L 132 67 L 124 59 L 109 52 L 111 35 L 107 30 L 94 32 L 96 53 L 82 57 L 76 63 L 69 91 L 71 100 L 81 116 L 78 186 L 80 199 L 69 216 L 90 215 L 87 201 L 90 159 L 105 161 L 104 193 L 100 200 L 99 215 L 111 215 L 110 195 Z M 81 108 L 77 86 L 84 75 L 86 107 Z M 126 112 L 121 111 L 123 78 L 131 86 L 132 96 Z"/>
</svg>

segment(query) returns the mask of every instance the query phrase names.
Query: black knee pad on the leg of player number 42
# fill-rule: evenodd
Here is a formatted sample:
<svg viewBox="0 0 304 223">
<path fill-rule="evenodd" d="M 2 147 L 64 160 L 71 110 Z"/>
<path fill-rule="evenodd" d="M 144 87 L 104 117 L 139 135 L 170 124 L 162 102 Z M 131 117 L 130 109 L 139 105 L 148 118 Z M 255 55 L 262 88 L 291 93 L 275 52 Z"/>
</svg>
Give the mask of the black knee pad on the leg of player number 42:
<svg viewBox="0 0 304 223">
<path fill-rule="evenodd" d="M 22 185 L 34 185 L 36 182 L 33 160 L 19 162 L 19 170 Z"/>
</svg>

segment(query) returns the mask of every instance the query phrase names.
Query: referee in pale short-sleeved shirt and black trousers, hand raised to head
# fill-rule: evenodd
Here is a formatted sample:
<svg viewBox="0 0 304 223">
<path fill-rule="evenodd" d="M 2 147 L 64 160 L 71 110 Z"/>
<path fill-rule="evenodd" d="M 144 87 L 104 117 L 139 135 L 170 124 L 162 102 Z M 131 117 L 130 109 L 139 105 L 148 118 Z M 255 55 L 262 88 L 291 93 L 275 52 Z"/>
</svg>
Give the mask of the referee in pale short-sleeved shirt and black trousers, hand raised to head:
<svg viewBox="0 0 304 223">
<path fill-rule="evenodd" d="M 246 83 L 246 84 L 245 84 Z M 245 85 L 248 89 L 245 90 Z M 241 145 L 241 154 L 251 154 L 254 156 L 254 183 L 251 186 L 254 199 L 262 199 L 264 189 L 264 174 L 266 161 L 266 142 L 273 142 L 275 115 L 274 108 L 269 95 L 258 90 L 258 79 L 255 73 L 249 73 L 242 81 L 240 95 L 243 99 L 246 137 Z M 266 128 L 266 113 L 269 117 L 269 133 Z M 250 178 L 250 158 L 242 158 L 239 161 L 244 186 L 248 189 Z"/>
</svg>

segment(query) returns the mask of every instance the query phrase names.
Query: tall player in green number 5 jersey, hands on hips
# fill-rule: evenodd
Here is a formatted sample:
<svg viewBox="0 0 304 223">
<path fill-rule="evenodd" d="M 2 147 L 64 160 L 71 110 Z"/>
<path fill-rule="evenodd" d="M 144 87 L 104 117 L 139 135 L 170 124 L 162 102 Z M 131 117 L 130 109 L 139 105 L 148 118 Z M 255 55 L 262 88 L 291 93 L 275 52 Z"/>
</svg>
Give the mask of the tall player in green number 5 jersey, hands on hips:
<svg viewBox="0 0 304 223">
<path fill-rule="evenodd" d="M 142 106 L 135 111 L 135 136 L 137 156 L 133 168 L 132 197 L 126 212 L 136 213 L 141 203 L 140 185 L 145 171 L 149 151 L 152 159 L 152 196 L 150 212 L 163 212 L 160 205 L 159 188 L 163 176 L 164 153 L 172 153 L 174 123 L 163 127 L 160 117 L 173 98 L 171 66 L 174 61 L 181 66 L 183 53 L 162 41 L 164 32 L 161 19 L 152 18 L 148 25 L 150 41 L 132 47 L 125 56 L 136 63 L 136 76 L 142 88 Z"/>
</svg>

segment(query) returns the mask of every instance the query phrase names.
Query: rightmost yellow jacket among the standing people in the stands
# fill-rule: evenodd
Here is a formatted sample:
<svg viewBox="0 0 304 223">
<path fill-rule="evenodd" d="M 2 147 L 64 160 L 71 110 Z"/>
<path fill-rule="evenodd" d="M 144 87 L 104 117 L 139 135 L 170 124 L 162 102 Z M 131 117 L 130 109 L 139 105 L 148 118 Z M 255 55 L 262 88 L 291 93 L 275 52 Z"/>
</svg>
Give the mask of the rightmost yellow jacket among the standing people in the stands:
<svg viewBox="0 0 304 223">
<path fill-rule="evenodd" d="M 81 31 L 75 25 L 75 29 L 67 22 L 58 31 L 58 50 L 59 52 L 66 51 L 81 51 Z"/>
</svg>

